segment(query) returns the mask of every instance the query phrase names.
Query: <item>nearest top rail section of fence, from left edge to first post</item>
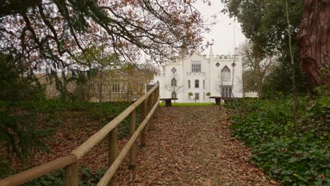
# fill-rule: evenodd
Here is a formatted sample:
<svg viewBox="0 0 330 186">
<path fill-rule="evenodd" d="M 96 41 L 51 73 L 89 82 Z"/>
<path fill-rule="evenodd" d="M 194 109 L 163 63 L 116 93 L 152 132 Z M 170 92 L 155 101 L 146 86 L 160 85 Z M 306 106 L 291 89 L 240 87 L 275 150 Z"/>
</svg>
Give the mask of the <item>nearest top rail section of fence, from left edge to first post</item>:
<svg viewBox="0 0 330 186">
<path fill-rule="evenodd" d="M 27 171 L 23 171 L 16 175 L 11 175 L 8 178 L 4 178 L 3 180 L 0 180 L 0 185 L 20 185 L 24 182 L 39 178 L 40 176 L 50 173 L 51 171 L 63 169 L 66 166 L 75 163 L 76 161 L 78 161 L 77 157 L 73 154 L 69 154 L 68 156 L 61 157 L 54 161 L 49 161 L 48 163 L 44 163 L 40 166 L 28 169 Z"/>
</svg>

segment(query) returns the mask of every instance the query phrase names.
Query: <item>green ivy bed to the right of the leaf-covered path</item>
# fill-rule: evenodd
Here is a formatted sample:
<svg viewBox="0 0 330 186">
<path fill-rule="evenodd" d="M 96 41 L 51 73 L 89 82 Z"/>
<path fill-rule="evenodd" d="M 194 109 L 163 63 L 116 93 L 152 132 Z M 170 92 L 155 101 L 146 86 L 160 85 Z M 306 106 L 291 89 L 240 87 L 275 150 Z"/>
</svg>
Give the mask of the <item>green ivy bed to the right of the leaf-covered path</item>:
<svg viewBox="0 0 330 186">
<path fill-rule="evenodd" d="M 243 124 L 233 117 L 233 135 L 252 147 L 253 160 L 283 185 L 330 185 L 330 97 L 298 98 L 299 135 L 293 100 L 245 101 Z"/>
</svg>

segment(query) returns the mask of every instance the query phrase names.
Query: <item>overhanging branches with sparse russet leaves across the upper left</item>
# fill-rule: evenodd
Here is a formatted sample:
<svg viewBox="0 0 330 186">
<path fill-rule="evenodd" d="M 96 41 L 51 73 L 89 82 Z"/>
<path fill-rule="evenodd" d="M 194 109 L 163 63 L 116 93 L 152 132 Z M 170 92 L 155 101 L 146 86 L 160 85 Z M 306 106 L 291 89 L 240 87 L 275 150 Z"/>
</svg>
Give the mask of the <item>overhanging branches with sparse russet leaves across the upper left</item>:
<svg viewBox="0 0 330 186">
<path fill-rule="evenodd" d="M 0 50 L 32 70 L 61 69 L 90 46 L 106 43 L 126 61 L 136 51 L 156 57 L 195 47 L 207 31 L 195 1 L 1 0 Z"/>
</svg>

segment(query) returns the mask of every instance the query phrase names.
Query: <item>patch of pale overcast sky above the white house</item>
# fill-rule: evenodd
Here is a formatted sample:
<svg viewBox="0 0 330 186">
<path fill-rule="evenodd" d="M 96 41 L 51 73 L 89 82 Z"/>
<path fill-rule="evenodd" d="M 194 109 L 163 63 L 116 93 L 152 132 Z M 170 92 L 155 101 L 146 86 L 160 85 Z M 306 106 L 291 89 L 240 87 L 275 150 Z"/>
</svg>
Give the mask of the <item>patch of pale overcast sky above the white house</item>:
<svg viewBox="0 0 330 186">
<path fill-rule="evenodd" d="M 204 34 L 204 44 L 207 41 L 211 42 L 214 39 L 214 45 L 212 46 L 214 55 L 228 55 L 233 54 L 234 50 L 234 30 L 236 47 L 245 42 L 245 36 L 241 32 L 239 23 L 234 24 L 233 18 L 229 18 L 228 15 L 221 13 L 221 9 L 224 5 L 220 0 L 210 0 L 212 5 L 208 6 L 204 4 L 202 0 L 198 0 L 195 7 L 200 11 L 204 20 L 212 20 L 211 16 L 216 13 L 216 25 L 211 28 L 211 32 Z M 235 29 L 234 29 L 235 25 Z M 209 49 L 206 49 L 203 54 L 209 54 Z"/>
</svg>

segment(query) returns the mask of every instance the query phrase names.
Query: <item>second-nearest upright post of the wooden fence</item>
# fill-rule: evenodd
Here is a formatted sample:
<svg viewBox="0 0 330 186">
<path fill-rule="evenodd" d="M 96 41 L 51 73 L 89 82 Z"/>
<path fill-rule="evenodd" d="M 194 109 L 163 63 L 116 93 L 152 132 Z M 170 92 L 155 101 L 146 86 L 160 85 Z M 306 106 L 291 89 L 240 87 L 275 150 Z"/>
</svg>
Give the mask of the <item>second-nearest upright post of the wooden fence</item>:
<svg viewBox="0 0 330 186">
<path fill-rule="evenodd" d="M 108 136 L 108 167 L 116 160 L 117 158 L 117 127 L 109 132 Z M 117 174 L 111 178 L 111 181 L 108 184 L 109 186 L 117 185 Z"/>
</svg>

